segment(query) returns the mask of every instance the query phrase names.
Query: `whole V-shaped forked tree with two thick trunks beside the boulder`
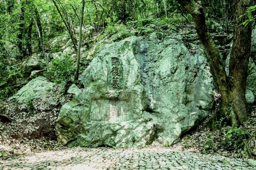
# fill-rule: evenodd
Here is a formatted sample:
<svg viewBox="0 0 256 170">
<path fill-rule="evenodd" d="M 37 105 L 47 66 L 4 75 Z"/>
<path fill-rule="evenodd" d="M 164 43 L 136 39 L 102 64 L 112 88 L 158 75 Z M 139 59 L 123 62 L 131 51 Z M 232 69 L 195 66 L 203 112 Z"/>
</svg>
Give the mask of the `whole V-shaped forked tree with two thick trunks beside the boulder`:
<svg viewBox="0 0 256 170">
<path fill-rule="evenodd" d="M 235 25 L 234 43 L 229 64 L 229 77 L 225 72 L 217 46 L 207 30 L 203 7 L 194 0 L 177 0 L 192 16 L 199 39 L 209 54 L 210 64 L 222 95 L 222 112 L 229 115 L 232 125 L 247 121 L 245 87 L 250 54 L 251 26 L 239 26 L 246 15 L 239 18 L 252 4 L 252 0 L 234 0 Z M 246 1 L 246 2 L 245 2 Z"/>
</svg>

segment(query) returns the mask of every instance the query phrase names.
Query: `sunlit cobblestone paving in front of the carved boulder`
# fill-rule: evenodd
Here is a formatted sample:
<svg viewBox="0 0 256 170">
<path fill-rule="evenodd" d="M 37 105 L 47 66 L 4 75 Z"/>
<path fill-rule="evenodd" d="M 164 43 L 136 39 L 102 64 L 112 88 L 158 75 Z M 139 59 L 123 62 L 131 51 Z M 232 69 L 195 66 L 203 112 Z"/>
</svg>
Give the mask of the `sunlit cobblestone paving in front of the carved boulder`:
<svg viewBox="0 0 256 170">
<path fill-rule="evenodd" d="M 0 170 L 256 170 L 243 159 L 164 147 L 65 148 L 0 160 Z"/>
</svg>

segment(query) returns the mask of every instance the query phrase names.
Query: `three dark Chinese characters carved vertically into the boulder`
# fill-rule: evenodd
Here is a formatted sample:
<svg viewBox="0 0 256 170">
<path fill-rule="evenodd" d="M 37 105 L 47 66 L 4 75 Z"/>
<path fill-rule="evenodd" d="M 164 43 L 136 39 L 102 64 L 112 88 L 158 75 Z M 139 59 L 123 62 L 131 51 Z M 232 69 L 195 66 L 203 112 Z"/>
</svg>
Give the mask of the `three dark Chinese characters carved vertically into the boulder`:
<svg viewBox="0 0 256 170">
<path fill-rule="evenodd" d="M 122 88 L 122 66 L 121 61 L 117 57 L 109 58 L 108 67 L 108 84 L 111 89 Z"/>
</svg>

